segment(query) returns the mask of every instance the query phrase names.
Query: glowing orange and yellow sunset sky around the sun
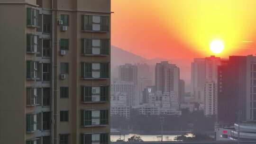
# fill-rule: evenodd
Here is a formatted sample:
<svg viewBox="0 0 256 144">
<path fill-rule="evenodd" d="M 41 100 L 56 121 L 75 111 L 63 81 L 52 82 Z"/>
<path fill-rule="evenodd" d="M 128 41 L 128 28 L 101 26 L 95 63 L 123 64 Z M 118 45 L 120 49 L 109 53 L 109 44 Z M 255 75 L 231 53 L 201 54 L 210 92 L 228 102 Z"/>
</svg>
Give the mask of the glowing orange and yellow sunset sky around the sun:
<svg viewBox="0 0 256 144">
<path fill-rule="evenodd" d="M 111 0 L 112 45 L 146 58 L 256 54 L 256 0 Z"/>
</svg>

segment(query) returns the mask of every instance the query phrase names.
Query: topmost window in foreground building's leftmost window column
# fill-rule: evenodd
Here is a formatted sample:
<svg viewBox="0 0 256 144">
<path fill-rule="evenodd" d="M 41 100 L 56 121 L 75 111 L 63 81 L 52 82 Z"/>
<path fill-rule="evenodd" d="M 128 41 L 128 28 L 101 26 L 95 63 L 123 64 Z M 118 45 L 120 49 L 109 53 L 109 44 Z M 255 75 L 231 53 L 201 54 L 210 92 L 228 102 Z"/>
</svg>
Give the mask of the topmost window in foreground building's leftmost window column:
<svg viewBox="0 0 256 144">
<path fill-rule="evenodd" d="M 39 10 L 27 8 L 27 26 L 37 27 Z"/>
</svg>

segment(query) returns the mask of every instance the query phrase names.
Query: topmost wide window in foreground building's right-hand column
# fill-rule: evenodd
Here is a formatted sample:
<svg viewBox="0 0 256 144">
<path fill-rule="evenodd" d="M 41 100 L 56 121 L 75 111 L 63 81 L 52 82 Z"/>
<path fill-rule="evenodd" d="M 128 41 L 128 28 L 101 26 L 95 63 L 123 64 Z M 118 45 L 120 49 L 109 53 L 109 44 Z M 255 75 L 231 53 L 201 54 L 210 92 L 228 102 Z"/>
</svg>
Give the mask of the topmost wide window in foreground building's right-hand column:
<svg viewBox="0 0 256 144">
<path fill-rule="evenodd" d="M 109 31 L 109 16 L 82 15 L 82 30 Z"/>
</svg>

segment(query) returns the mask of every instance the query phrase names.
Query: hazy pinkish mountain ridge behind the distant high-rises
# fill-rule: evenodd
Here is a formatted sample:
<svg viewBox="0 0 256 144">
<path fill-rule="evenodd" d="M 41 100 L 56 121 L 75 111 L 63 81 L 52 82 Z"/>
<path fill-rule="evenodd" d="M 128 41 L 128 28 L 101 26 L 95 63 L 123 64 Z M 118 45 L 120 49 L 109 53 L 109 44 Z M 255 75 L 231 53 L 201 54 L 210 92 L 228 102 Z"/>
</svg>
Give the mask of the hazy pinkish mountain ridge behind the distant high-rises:
<svg viewBox="0 0 256 144">
<path fill-rule="evenodd" d="M 171 54 L 170 54 L 171 57 Z M 115 78 L 118 75 L 117 66 L 125 63 L 147 63 L 154 68 L 155 63 L 161 61 L 168 61 L 169 63 L 176 64 L 180 68 L 180 77 L 186 82 L 186 89 L 190 85 L 190 73 L 191 73 L 191 60 L 189 59 L 165 59 L 165 58 L 154 58 L 147 59 L 137 54 L 130 53 L 116 46 L 111 46 L 111 68 L 112 77 Z"/>
</svg>

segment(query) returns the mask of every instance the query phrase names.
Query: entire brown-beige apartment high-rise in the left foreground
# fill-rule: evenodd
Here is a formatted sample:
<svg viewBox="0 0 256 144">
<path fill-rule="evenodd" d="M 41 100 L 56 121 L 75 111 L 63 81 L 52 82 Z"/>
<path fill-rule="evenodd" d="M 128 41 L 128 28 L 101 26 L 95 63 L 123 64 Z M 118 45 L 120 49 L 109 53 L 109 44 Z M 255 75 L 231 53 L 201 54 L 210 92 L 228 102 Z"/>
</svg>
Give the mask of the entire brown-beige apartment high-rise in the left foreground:
<svg viewBox="0 0 256 144">
<path fill-rule="evenodd" d="M 110 0 L 0 9 L 0 144 L 110 143 Z"/>
</svg>

